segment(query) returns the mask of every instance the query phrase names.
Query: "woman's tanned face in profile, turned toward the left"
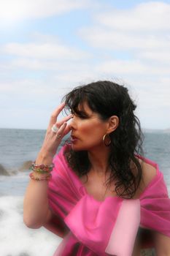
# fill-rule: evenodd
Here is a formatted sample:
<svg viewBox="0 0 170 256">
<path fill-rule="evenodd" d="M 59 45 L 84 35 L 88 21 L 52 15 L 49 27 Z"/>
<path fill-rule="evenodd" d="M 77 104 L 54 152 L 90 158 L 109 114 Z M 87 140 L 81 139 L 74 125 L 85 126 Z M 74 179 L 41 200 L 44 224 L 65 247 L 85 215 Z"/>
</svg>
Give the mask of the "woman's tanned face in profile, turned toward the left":
<svg viewBox="0 0 170 256">
<path fill-rule="evenodd" d="M 104 146 L 103 136 L 107 132 L 108 122 L 101 121 L 98 114 L 93 113 L 86 102 L 83 104 L 83 108 L 88 117 L 73 113 L 72 121 L 69 124 L 72 131 L 72 149 L 75 151 L 89 151 L 96 146 Z"/>
</svg>

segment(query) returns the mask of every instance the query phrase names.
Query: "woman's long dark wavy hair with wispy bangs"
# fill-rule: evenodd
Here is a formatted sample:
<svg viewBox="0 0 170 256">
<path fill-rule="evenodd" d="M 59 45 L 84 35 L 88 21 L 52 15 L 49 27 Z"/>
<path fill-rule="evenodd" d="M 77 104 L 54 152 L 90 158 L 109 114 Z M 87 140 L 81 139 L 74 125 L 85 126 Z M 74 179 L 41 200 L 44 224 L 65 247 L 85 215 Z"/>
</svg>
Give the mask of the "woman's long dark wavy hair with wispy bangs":
<svg viewBox="0 0 170 256">
<path fill-rule="evenodd" d="M 107 185 L 115 183 L 115 191 L 119 197 L 129 199 L 134 197 L 142 179 L 142 167 L 136 155 L 144 155 L 142 143 L 144 135 L 139 118 L 134 114 L 136 105 L 128 94 L 128 89 L 117 83 L 99 80 L 85 86 L 78 86 L 63 97 L 66 110 L 85 116 L 83 103 L 87 102 L 93 112 L 98 113 L 101 120 L 117 116 L 119 124 L 111 132 L 111 144 L 108 166 L 111 170 Z M 78 109 L 81 105 L 82 109 Z M 69 148 L 65 157 L 72 170 L 79 177 L 90 170 L 88 151 L 74 151 Z"/>
</svg>

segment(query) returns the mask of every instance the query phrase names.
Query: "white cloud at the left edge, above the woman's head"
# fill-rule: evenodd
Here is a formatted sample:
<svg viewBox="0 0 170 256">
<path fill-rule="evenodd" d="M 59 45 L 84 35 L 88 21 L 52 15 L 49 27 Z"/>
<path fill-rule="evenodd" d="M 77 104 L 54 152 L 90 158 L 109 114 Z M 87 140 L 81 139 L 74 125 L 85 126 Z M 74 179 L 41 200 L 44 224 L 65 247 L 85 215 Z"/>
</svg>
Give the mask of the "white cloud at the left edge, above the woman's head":
<svg viewBox="0 0 170 256">
<path fill-rule="evenodd" d="M 70 45 L 65 45 L 58 37 L 50 34 L 32 34 L 27 43 L 10 42 L 1 45 L 0 54 L 9 59 L 0 61 L 0 72 L 24 69 L 27 72 L 64 72 L 71 69 L 87 69 L 91 54 Z"/>
</svg>

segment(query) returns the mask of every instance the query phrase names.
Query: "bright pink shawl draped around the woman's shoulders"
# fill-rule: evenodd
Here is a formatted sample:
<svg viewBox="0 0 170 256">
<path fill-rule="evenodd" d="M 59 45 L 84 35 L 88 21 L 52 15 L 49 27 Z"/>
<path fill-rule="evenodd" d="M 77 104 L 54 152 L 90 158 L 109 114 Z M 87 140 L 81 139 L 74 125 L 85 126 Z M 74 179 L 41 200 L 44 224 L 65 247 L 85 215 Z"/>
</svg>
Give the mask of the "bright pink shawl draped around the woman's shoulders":
<svg viewBox="0 0 170 256">
<path fill-rule="evenodd" d="M 88 195 L 68 166 L 63 156 L 67 147 L 53 159 L 55 167 L 48 184 L 49 206 L 55 218 L 45 227 L 54 233 L 69 229 L 53 256 L 131 256 L 139 225 L 170 237 L 170 199 L 155 162 L 144 158 L 157 173 L 139 199 L 109 196 L 98 201 Z"/>
</svg>

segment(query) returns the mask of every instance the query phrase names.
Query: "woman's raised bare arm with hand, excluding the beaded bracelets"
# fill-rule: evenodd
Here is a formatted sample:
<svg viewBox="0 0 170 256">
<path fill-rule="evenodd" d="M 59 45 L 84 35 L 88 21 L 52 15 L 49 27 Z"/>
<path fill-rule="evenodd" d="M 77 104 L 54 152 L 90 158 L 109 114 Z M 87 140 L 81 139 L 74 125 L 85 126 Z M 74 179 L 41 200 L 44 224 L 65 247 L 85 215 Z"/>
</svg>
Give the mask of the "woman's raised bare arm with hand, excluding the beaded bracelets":
<svg viewBox="0 0 170 256">
<path fill-rule="evenodd" d="M 50 165 L 53 162 L 53 156 L 61 143 L 61 138 L 63 138 L 63 136 L 70 130 L 66 121 L 72 118 L 72 115 L 66 116 L 63 120 L 57 122 L 57 117 L 63 108 L 64 105 L 60 105 L 50 118 L 50 124 L 47 128 L 45 140 L 36 159 L 37 165 Z M 53 124 L 59 127 L 57 132 L 51 130 Z M 60 135 L 60 137 L 58 135 Z M 36 175 L 42 176 L 42 173 L 36 172 Z M 47 182 L 48 181 L 35 181 L 32 179 L 29 181 L 23 202 L 23 222 L 27 227 L 42 227 L 42 225 L 49 222 L 52 218 L 47 198 Z"/>
</svg>

